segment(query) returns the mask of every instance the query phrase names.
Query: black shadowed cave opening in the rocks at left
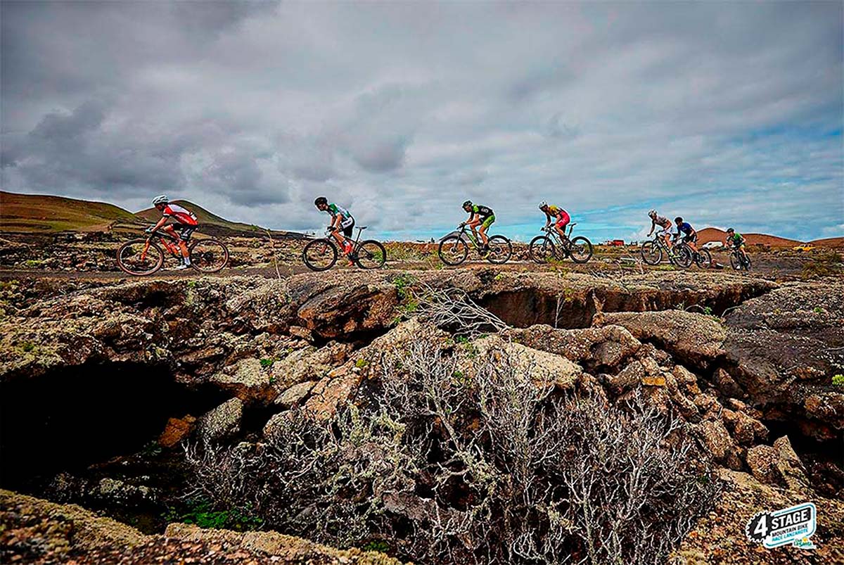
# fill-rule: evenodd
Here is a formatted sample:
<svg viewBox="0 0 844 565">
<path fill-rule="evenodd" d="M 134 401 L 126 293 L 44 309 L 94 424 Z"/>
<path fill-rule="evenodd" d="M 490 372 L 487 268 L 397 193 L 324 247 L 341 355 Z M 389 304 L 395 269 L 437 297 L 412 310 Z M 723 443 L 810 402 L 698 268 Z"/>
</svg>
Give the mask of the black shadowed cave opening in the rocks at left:
<svg viewBox="0 0 844 565">
<path fill-rule="evenodd" d="M 0 486 L 38 490 L 58 472 L 133 454 L 170 417 L 199 416 L 223 400 L 144 363 L 86 363 L 2 383 Z"/>
</svg>

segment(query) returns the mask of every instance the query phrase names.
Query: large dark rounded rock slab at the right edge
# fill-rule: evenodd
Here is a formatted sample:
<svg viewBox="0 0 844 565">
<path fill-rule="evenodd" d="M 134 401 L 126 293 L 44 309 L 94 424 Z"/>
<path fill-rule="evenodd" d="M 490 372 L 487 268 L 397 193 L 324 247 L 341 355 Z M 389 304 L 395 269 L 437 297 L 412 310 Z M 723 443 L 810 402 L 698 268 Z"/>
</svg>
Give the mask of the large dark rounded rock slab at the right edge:
<svg viewBox="0 0 844 565">
<path fill-rule="evenodd" d="M 844 285 L 794 285 L 760 296 L 726 318 L 732 378 L 772 420 L 798 417 L 818 439 L 841 437 Z"/>
</svg>

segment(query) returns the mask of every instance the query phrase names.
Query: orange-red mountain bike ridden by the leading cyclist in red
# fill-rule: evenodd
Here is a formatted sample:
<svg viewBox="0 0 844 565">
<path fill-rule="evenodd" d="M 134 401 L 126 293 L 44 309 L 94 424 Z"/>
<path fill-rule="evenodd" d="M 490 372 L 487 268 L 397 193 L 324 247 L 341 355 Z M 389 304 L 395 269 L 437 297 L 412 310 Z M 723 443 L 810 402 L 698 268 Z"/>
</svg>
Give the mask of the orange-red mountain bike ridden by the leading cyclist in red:
<svg viewBox="0 0 844 565">
<path fill-rule="evenodd" d="M 153 274 L 164 266 L 164 247 L 181 261 L 179 238 L 167 231 L 156 230 L 145 238 L 133 239 L 117 249 L 117 266 L 135 276 Z M 229 262 L 229 248 L 214 237 L 195 239 L 187 246 L 191 267 L 200 273 L 216 273 Z"/>
</svg>

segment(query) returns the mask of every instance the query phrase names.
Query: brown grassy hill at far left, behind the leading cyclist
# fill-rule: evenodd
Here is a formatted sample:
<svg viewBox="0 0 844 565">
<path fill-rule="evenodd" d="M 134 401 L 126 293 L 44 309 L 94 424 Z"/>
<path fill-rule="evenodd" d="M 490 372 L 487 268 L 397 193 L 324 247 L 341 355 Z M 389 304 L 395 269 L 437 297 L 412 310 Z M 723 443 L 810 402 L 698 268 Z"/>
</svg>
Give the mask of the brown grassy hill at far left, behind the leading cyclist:
<svg viewBox="0 0 844 565">
<path fill-rule="evenodd" d="M 104 202 L 0 191 L 0 231 L 106 231 L 118 224 L 139 226 L 141 220 Z"/>
</svg>

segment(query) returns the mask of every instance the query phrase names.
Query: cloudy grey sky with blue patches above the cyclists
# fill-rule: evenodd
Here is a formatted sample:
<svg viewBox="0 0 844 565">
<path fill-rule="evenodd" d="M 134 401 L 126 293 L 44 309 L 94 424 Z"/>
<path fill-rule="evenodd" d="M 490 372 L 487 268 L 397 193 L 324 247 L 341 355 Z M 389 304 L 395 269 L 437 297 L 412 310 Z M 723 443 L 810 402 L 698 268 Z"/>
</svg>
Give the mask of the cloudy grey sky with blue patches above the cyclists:
<svg viewBox="0 0 844 565">
<path fill-rule="evenodd" d="M 316 230 L 844 235 L 842 3 L 2 3 L 3 189 Z"/>
</svg>

